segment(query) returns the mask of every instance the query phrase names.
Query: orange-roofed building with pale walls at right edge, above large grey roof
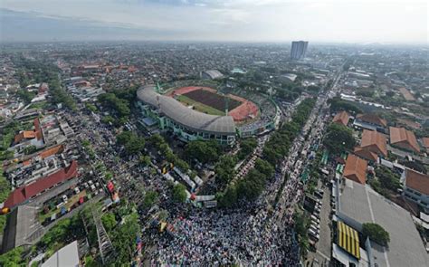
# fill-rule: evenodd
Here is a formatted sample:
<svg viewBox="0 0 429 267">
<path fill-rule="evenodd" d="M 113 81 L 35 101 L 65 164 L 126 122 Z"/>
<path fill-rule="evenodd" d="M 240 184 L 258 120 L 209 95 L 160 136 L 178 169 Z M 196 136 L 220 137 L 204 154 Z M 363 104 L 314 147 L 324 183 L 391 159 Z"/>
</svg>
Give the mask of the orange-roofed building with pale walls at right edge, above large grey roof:
<svg viewBox="0 0 429 267">
<path fill-rule="evenodd" d="M 403 178 L 405 179 L 403 195 L 429 211 L 429 175 L 407 168 Z"/>
</svg>

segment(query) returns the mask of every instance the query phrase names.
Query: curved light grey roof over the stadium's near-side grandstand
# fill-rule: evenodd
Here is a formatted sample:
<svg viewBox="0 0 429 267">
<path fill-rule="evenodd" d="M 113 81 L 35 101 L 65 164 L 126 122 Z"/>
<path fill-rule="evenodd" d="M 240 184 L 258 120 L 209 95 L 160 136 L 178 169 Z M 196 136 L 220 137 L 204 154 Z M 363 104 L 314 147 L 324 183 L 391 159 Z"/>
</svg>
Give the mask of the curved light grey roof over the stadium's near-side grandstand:
<svg viewBox="0 0 429 267">
<path fill-rule="evenodd" d="M 214 134 L 235 134 L 235 123 L 231 116 L 215 116 L 192 110 L 177 100 L 158 94 L 155 85 L 147 85 L 137 91 L 141 100 L 164 113 L 169 119 L 195 131 L 205 131 Z"/>
</svg>

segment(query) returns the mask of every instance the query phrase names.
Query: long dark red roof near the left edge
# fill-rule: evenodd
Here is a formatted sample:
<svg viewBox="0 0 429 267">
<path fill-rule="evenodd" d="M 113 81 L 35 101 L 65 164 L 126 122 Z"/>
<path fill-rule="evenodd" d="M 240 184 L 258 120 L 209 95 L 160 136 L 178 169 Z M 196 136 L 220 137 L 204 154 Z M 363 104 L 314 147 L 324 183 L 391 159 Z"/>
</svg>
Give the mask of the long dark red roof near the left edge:
<svg viewBox="0 0 429 267">
<path fill-rule="evenodd" d="M 71 161 L 71 165 L 64 167 L 61 170 L 53 173 L 52 175 L 45 176 L 33 182 L 32 184 L 21 186 L 16 189 L 7 197 L 5 207 L 12 208 L 15 205 L 20 205 L 26 200 L 32 198 L 34 195 L 42 193 L 44 190 L 60 184 L 78 174 L 77 161 Z"/>
</svg>

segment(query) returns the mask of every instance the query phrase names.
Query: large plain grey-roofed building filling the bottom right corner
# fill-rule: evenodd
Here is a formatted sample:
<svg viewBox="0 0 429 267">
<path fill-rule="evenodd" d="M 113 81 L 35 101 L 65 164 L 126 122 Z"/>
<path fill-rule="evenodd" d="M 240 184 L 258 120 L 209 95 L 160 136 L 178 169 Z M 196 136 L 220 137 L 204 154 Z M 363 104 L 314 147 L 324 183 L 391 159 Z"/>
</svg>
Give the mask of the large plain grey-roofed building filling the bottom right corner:
<svg viewBox="0 0 429 267">
<path fill-rule="evenodd" d="M 365 259 L 358 260 L 359 264 L 354 266 L 428 266 L 429 256 L 424 243 L 412 216 L 405 209 L 379 195 L 369 186 L 348 179 L 341 184 L 336 182 L 333 195 L 338 221 L 359 233 L 362 233 L 362 224 L 376 223 L 390 235 L 388 248 L 369 239 L 361 242 L 360 257 L 365 256 Z M 335 257 L 334 251 L 332 254 Z M 338 257 L 337 260 L 343 259 L 344 257 Z M 341 264 L 339 266 L 353 266 L 347 261 Z"/>
</svg>

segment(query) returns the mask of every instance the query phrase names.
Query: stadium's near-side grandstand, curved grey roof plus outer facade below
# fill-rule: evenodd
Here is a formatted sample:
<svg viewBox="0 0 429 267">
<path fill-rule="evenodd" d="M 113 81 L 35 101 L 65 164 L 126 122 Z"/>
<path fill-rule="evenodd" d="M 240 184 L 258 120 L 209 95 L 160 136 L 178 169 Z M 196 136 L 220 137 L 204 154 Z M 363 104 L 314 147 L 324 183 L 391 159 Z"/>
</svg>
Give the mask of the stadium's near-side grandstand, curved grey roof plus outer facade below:
<svg viewBox="0 0 429 267">
<path fill-rule="evenodd" d="M 231 116 L 215 116 L 192 110 L 155 91 L 147 85 L 137 92 L 138 107 L 145 120 L 155 121 L 160 130 L 171 130 L 185 141 L 215 139 L 223 145 L 233 145 L 236 127 Z M 146 119 L 149 118 L 149 119 Z M 149 125 L 148 125 L 149 127 Z"/>
</svg>

